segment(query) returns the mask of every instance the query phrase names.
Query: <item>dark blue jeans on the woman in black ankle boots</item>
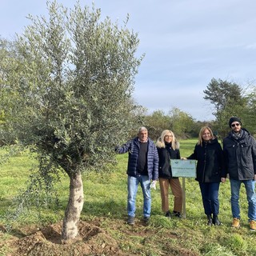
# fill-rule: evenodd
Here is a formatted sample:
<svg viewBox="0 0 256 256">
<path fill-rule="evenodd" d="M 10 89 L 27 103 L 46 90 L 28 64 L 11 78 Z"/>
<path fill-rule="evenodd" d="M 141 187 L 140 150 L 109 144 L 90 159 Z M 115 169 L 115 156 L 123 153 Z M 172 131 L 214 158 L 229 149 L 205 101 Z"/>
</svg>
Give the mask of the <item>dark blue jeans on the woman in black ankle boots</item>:
<svg viewBox="0 0 256 256">
<path fill-rule="evenodd" d="M 202 183 L 199 182 L 202 204 L 206 215 L 218 215 L 219 202 L 218 202 L 218 189 L 219 182 Z"/>
</svg>

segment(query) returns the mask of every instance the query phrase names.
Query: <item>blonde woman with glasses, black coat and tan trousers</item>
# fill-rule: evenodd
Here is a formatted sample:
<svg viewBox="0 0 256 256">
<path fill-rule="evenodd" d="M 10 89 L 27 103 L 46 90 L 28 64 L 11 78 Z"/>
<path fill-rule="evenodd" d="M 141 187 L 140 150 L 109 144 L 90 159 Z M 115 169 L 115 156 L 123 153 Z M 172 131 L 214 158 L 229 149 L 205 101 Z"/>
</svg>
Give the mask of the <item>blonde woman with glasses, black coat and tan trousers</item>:
<svg viewBox="0 0 256 256">
<path fill-rule="evenodd" d="M 163 130 L 156 142 L 159 155 L 158 179 L 161 190 L 162 211 L 170 218 L 169 186 L 174 195 L 174 216 L 182 217 L 182 186 L 178 178 L 172 176 L 170 159 L 180 159 L 179 144 L 171 130 Z"/>
</svg>

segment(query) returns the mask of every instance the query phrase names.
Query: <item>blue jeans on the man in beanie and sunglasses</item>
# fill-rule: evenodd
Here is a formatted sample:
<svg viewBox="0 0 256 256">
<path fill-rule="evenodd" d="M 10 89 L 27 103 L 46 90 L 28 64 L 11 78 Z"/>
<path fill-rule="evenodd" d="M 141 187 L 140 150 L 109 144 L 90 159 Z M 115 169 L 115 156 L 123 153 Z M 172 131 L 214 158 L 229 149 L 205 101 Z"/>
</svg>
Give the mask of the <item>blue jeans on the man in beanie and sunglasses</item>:
<svg viewBox="0 0 256 256">
<path fill-rule="evenodd" d="M 241 184 L 246 187 L 246 196 L 248 202 L 248 218 L 256 221 L 256 194 L 254 191 L 255 182 L 253 180 L 238 181 L 230 179 L 231 186 L 231 210 L 233 218 L 240 218 L 239 192 Z"/>
</svg>

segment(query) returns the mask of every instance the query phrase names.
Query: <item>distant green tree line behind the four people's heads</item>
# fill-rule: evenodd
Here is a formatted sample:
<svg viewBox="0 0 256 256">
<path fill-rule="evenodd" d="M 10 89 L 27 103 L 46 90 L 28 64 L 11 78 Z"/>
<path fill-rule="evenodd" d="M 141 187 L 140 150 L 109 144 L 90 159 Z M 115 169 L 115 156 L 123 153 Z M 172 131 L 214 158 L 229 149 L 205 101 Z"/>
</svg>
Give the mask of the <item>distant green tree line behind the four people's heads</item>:
<svg viewBox="0 0 256 256">
<path fill-rule="evenodd" d="M 152 114 L 142 115 L 143 124 L 148 127 L 150 137 L 156 139 L 162 130 L 170 129 L 178 138 L 198 137 L 202 126 L 210 126 L 219 139 L 225 138 L 230 131 L 228 121 L 231 116 L 242 119 L 242 126 L 256 136 L 256 86 L 254 81 L 246 88 L 235 82 L 222 81 L 212 78 L 206 86 L 204 99 L 214 106 L 214 119 L 204 122 L 195 120 L 190 114 L 174 107 L 165 114 L 155 110 Z M 209 111 L 209 110 L 206 110 Z"/>
</svg>

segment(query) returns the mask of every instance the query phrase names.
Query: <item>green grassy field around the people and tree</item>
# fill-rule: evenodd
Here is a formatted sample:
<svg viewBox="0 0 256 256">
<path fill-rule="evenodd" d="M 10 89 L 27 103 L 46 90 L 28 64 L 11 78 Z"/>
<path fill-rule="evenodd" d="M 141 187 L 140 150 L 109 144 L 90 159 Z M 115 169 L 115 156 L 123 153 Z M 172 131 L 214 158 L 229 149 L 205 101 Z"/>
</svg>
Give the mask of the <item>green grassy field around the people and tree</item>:
<svg viewBox="0 0 256 256">
<path fill-rule="evenodd" d="M 182 157 L 189 156 L 196 140 L 181 141 Z M 230 183 L 220 186 L 220 214 L 222 226 L 206 226 L 198 182 L 186 178 L 186 218 L 168 219 L 161 210 L 159 185 L 152 190 L 152 216 L 150 226 L 140 225 L 142 219 L 142 190 L 138 190 L 136 225 L 126 225 L 126 165 L 127 154 L 118 155 L 118 165 L 110 173 L 84 174 L 85 204 L 81 219 L 93 222 L 106 230 L 118 242 L 123 252 L 130 255 L 256 255 L 255 236 L 247 222 L 247 202 L 244 186 L 241 190 L 242 225 L 230 228 Z M 0 224 L 10 220 L 6 210 L 13 206 L 13 198 L 26 187 L 30 169 L 36 162 L 28 154 L 18 154 L 0 166 Z M 0 231 L 0 255 L 11 255 L 8 241 L 17 230 L 29 226 L 46 226 L 60 222 L 69 192 L 69 182 L 62 174 L 58 183 L 60 205 L 47 209 L 32 209 L 12 223 L 10 233 Z M 173 197 L 170 196 L 170 209 Z M 10 223 L 9 223 L 10 224 Z M 16 230 L 16 231 L 15 231 Z"/>
</svg>

